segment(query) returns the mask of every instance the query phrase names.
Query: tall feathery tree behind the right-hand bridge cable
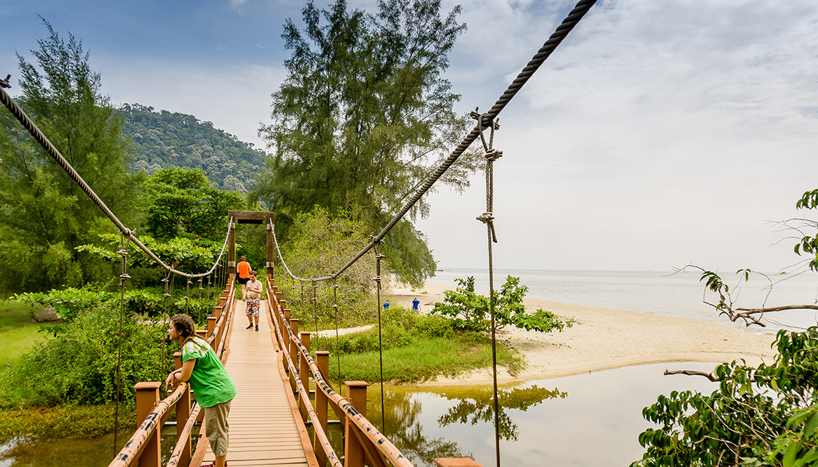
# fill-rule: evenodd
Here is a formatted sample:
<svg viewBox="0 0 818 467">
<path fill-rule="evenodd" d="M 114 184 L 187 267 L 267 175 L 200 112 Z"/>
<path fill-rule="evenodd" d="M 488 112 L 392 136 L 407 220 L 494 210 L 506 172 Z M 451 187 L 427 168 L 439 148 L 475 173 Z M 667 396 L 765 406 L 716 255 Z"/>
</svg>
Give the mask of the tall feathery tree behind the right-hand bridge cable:
<svg viewBox="0 0 818 467">
<path fill-rule="evenodd" d="M 368 15 L 336 0 L 326 10 L 308 2 L 303 29 L 286 21 L 288 74 L 272 95 L 272 125 L 259 130 L 275 154 L 253 193 L 276 212 L 276 227 L 319 205 L 376 233 L 448 155 L 466 124 L 441 76 L 465 30 L 460 12 L 441 16 L 439 0 L 380 0 Z M 441 180 L 458 189 L 476 167 L 461 159 Z M 428 212 L 421 200 L 411 218 Z M 410 220 L 387 242 L 384 254 L 405 279 L 417 284 L 434 270 Z"/>
</svg>

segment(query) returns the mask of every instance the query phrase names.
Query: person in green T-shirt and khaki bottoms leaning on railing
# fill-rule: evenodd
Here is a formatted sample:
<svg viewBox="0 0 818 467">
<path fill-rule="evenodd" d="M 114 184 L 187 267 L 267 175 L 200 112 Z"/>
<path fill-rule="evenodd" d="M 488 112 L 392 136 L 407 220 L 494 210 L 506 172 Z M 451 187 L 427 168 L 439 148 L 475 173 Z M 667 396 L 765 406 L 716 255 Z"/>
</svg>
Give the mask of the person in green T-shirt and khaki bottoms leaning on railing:
<svg viewBox="0 0 818 467">
<path fill-rule="evenodd" d="M 230 415 L 230 402 L 236 397 L 236 384 L 213 348 L 205 339 L 196 337 L 196 325 L 191 317 L 174 315 L 170 318 L 168 335 L 182 346 L 182 369 L 170 372 L 164 380 L 164 389 L 167 391 L 168 386 L 175 389 L 184 382 L 191 385 L 196 402 L 205 409 L 205 434 L 216 456 L 215 462 L 202 467 L 225 467 L 230 441 L 227 415 Z"/>
</svg>

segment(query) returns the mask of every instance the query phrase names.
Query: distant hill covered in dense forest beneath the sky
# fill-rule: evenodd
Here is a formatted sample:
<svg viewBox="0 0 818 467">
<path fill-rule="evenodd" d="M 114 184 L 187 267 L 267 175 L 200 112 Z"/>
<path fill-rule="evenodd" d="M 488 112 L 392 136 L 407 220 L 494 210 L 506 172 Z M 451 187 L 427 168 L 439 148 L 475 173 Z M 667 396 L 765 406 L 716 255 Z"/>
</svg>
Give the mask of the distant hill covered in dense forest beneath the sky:
<svg viewBox="0 0 818 467">
<path fill-rule="evenodd" d="M 133 169 L 151 174 L 160 168 L 201 168 L 219 188 L 246 193 L 264 166 L 265 153 L 251 143 L 213 128 L 193 115 L 140 104 L 124 104 L 124 134 L 133 141 Z"/>
</svg>

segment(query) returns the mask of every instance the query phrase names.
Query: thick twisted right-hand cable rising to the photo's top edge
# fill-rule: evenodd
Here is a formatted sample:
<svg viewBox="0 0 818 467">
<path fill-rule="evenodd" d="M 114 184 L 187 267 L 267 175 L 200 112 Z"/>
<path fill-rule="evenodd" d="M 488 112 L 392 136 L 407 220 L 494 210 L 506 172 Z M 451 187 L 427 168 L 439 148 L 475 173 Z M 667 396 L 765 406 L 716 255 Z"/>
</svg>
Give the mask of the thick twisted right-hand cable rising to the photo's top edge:
<svg viewBox="0 0 818 467">
<path fill-rule="evenodd" d="M 517 78 L 513 82 L 511 82 L 509 87 L 506 89 L 506 92 L 503 92 L 501 97 L 497 100 L 497 102 L 495 102 L 494 106 L 492 106 L 492 108 L 488 110 L 488 112 L 483 114 L 485 115 L 485 119 L 483 121 L 491 122 L 497 118 L 497 115 L 500 114 L 501 110 L 503 110 L 509 103 L 509 101 L 511 101 L 511 99 L 517 95 L 517 92 L 519 92 L 519 90 L 523 88 L 524 84 L 528 82 L 528 79 L 530 79 L 534 72 L 540 68 L 542 63 L 546 61 L 546 59 L 549 56 L 551 56 L 551 53 L 554 52 L 556 47 L 559 46 L 560 43 L 562 43 L 564 38 L 568 36 L 568 34 L 579 23 L 579 21 L 582 20 L 582 17 L 585 16 L 588 10 L 590 10 L 591 7 L 594 6 L 594 3 L 596 3 L 596 0 L 580 0 L 580 2 L 577 3 L 577 6 L 574 7 L 573 10 L 571 10 L 571 12 L 569 13 L 569 15 L 565 17 L 563 22 L 560 24 L 560 26 L 557 27 L 554 33 L 551 34 L 551 37 L 548 38 L 546 43 L 542 44 L 542 47 L 540 47 L 537 53 L 534 54 L 531 61 L 528 61 L 528 65 L 525 65 L 525 68 L 519 72 Z M 290 276 L 299 281 L 328 281 L 330 279 L 337 279 L 341 275 L 341 273 L 348 269 L 348 267 L 356 263 L 358 259 L 362 258 L 362 256 L 366 254 L 366 252 L 368 252 L 375 245 L 377 245 L 377 243 L 380 242 L 380 240 L 382 240 L 384 236 L 386 236 L 386 234 L 389 233 L 390 230 L 392 230 L 392 227 L 394 227 L 395 224 L 397 224 L 403 218 L 403 216 L 405 216 L 406 213 L 409 212 L 409 209 L 411 209 L 418 202 L 418 200 L 420 200 L 420 198 L 426 194 L 426 191 L 429 191 L 429 188 L 431 188 L 434 185 L 434 182 L 437 182 L 438 179 L 443 176 L 443 173 L 446 173 L 448 168 L 451 167 L 452 164 L 456 162 L 457 158 L 459 158 L 465 152 L 465 150 L 468 149 L 469 146 L 471 146 L 471 143 L 474 142 L 474 140 L 480 136 L 482 130 L 482 128 L 480 128 L 481 124 L 482 124 L 481 122 L 478 122 L 475 128 L 465 138 L 463 138 L 463 141 L 461 141 L 460 145 L 457 146 L 456 149 L 452 151 L 452 154 L 449 155 L 447 159 L 443 161 L 443 164 L 440 164 L 440 166 L 437 169 L 435 169 L 434 173 L 432 173 L 432 175 L 429 176 L 426 182 L 422 186 L 420 186 L 420 188 L 415 192 L 414 195 L 412 195 L 411 199 L 407 201 L 406 204 L 403 205 L 402 209 L 393 216 L 393 218 L 389 221 L 386 227 L 384 227 L 378 233 L 378 235 L 373 237 L 369 245 L 366 245 L 352 259 L 350 259 L 348 263 L 344 264 L 344 266 L 341 267 L 337 272 L 335 272 L 331 276 L 305 279 L 294 276 L 294 274 L 290 272 L 290 269 L 287 268 L 285 264 L 285 268 L 287 269 L 287 272 L 290 274 Z M 272 238 L 273 240 L 276 239 L 275 231 L 273 231 Z M 276 249 L 278 249 L 277 242 Z M 279 257 L 281 258 L 280 251 Z M 284 263 L 284 258 L 281 258 L 281 262 Z"/>
</svg>

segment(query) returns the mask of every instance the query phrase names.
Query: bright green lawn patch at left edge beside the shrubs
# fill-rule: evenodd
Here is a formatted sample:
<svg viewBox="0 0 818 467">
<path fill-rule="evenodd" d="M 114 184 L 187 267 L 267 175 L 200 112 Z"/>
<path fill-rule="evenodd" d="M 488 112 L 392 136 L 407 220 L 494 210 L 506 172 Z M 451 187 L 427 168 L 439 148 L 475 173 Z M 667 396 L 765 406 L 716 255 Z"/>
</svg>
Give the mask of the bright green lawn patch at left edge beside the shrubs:
<svg viewBox="0 0 818 467">
<path fill-rule="evenodd" d="M 12 300 L 0 302 L 0 372 L 7 372 L 7 365 L 35 342 L 45 339 L 38 333 L 39 324 L 31 319 L 31 307 Z"/>
</svg>

